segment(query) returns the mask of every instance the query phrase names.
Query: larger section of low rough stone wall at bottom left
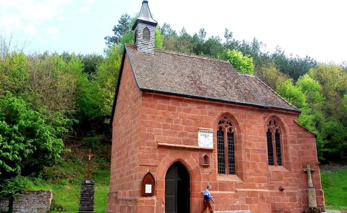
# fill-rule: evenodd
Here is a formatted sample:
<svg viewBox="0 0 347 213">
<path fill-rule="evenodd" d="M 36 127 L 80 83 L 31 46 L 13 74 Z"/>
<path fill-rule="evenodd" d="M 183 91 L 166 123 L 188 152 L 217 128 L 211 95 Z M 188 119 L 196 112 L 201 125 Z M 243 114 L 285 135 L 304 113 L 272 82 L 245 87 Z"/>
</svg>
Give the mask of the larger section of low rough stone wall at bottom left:
<svg viewBox="0 0 347 213">
<path fill-rule="evenodd" d="M 13 200 L 13 212 L 42 213 L 48 212 L 53 199 L 53 192 L 27 191 Z"/>
</svg>

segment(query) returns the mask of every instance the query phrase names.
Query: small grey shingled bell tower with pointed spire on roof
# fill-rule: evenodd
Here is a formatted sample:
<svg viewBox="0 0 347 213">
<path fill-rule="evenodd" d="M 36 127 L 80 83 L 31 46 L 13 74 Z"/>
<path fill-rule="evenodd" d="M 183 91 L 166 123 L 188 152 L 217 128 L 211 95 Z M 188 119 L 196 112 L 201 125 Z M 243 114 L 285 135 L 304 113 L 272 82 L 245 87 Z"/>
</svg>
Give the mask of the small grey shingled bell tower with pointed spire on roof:
<svg viewBox="0 0 347 213">
<path fill-rule="evenodd" d="M 148 1 L 143 0 L 140 15 L 132 28 L 134 30 L 134 44 L 139 52 L 154 54 L 154 35 L 157 24 L 152 19 Z"/>
</svg>

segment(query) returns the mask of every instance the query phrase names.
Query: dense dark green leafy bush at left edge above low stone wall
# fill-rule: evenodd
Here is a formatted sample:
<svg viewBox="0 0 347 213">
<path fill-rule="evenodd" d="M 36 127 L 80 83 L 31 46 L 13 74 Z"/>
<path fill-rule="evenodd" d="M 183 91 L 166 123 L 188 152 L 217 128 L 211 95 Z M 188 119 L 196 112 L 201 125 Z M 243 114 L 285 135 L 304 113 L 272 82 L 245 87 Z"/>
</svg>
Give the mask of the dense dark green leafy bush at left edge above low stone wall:
<svg viewBox="0 0 347 213">
<path fill-rule="evenodd" d="M 0 98 L 0 174 L 20 174 L 52 165 L 65 152 L 62 135 L 67 133 L 69 119 L 57 115 L 50 122 L 44 110 L 34 111 L 10 92 Z"/>
</svg>

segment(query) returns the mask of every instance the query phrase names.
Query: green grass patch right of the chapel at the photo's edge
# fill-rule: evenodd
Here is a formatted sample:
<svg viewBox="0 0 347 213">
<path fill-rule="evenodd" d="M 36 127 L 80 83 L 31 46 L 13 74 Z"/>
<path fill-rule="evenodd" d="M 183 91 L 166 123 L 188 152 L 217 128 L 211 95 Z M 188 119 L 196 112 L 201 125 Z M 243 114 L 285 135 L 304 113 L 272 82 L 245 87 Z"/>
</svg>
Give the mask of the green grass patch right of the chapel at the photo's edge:
<svg viewBox="0 0 347 213">
<path fill-rule="evenodd" d="M 347 210 L 347 167 L 337 171 L 321 171 L 322 188 L 327 209 Z"/>
</svg>

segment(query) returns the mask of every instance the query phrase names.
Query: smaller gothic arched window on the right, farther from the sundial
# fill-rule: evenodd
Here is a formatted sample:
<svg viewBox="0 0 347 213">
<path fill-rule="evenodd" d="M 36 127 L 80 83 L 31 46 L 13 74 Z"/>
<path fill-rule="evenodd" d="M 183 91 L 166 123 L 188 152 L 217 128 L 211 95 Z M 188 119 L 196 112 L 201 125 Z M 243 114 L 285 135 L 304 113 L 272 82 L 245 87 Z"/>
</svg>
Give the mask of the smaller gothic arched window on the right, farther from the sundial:
<svg viewBox="0 0 347 213">
<path fill-rule="evenodd" d="M 269 165 L 282 165 L 281 155 L 281 130 L 278 122 L 271 119 L 267 125 L 266 141 L 267 141 L 267 156 Z"/>
</svg>

